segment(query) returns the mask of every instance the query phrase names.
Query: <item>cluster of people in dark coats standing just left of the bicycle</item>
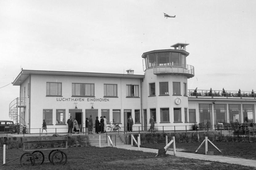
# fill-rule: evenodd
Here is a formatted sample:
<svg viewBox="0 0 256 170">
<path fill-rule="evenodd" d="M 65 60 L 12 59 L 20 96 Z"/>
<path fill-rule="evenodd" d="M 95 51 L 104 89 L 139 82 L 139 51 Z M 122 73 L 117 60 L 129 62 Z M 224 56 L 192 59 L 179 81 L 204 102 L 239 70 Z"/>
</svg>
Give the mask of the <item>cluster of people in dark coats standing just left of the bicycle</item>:
<svg viewBox="0 0 256 170">
<path fill-rule="evenodd" d="M 99 117 L 96 116 L 95 120 L 95 133 L 105 133 L 106 132 L 106 127 L 107 127 L 107 119 L 106 116 L 101 116 L 101 120 L 99 121 Z M 89 118 L 86 118 L 85 121 L 85 127 L 88 127 L 88 133 L 93 134 L 93 118 L 92 115 L 90 115 Z"/>
</svg>

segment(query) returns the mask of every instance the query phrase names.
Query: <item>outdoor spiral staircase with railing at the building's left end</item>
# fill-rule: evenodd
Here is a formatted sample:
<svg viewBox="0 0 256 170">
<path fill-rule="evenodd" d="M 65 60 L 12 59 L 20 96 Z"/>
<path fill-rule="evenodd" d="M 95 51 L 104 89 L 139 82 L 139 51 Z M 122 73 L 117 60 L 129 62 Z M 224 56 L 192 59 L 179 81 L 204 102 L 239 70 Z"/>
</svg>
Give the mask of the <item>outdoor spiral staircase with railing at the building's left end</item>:
<svg viewBox="0 0 256 170">
<path fill-rule="evenodd" d="M 18 107 L 26 106 L 25 97 L 17 97 L 9 105 L 9 117 L 14 123 L 26 125 L 26 121 L 18 114 Z"/>
</svg>

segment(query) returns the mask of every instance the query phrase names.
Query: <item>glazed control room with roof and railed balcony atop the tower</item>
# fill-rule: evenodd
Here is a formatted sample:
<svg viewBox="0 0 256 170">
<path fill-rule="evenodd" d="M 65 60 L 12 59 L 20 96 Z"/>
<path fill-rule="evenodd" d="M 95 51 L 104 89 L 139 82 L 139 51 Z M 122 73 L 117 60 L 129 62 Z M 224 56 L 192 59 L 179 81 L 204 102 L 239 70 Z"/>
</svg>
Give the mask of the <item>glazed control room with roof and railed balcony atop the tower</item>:
<svg viewBox="0 0 256 170">
<path fill-rule="evenodd" d="M 174 49 L 154 50 L 143 53 L 142 58 L 145 59 L 146 63 L 145 72 L 150 70 L 155 75 L 186 75 L 188 79 L 194 77 L 194 67 L 186 63 L 186 57 L 189 55 L 186 51 L 187 45 L 189 44 L 177 43 L 171 46 Z"/>
</svg>

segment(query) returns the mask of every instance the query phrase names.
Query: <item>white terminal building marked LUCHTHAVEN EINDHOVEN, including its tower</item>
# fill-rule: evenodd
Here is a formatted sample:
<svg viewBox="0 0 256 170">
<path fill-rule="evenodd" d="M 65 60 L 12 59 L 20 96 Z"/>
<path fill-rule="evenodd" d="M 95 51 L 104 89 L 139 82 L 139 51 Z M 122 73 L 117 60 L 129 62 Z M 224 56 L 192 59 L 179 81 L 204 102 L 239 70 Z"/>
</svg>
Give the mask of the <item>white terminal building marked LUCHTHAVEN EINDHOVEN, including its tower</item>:
<svg viewBox="0 0 256 170">
<path fill-rule="evenodd" d="M 90 115 L 106 116 L 122 131 L 130 115 L 134 131 L 147 131 L 151 115 L 155 131 L 192 130 L 195 123 L 211 123 L 214 129 L 236 119 L 255 123 L 254 92 L 187 89 L 195 74 L 186 63 L 187 45 L 143 53 L 144 75 L 131 69 L 127 74 L 22 70 L 13 82 L 20 94 L 10 103 L 10 118 L 26 124 L 29 133 L 39 133 L 43 119 L 49 133 L 67 132 L 69 116 L 83 131 Z"/>
</svg>

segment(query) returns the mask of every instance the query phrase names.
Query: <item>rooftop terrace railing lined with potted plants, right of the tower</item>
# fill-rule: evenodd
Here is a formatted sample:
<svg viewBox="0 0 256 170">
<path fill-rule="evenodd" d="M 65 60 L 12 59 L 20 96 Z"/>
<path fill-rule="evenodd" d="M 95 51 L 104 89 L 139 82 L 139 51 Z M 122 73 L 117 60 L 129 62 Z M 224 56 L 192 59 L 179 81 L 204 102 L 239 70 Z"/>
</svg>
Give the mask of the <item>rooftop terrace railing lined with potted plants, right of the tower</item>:
<svg viewBox="0 0 256 170">
<path fill-rule="evenodd" d="M 189 98 L 256 99 L 254 91 L 188 90 Z"/>
</svg>

